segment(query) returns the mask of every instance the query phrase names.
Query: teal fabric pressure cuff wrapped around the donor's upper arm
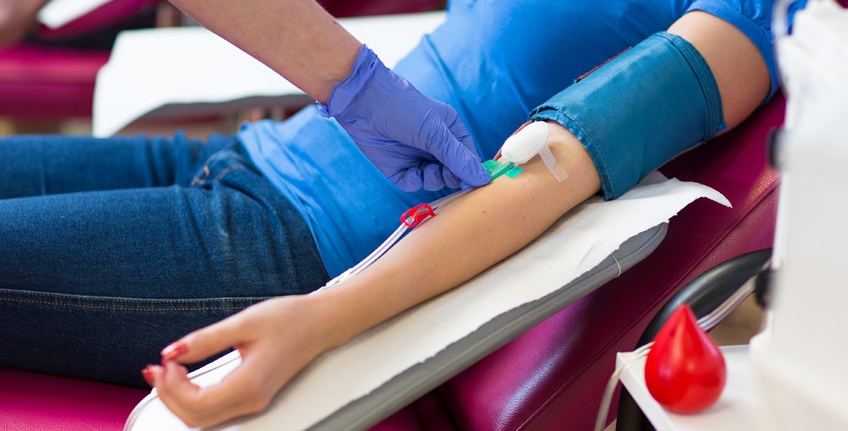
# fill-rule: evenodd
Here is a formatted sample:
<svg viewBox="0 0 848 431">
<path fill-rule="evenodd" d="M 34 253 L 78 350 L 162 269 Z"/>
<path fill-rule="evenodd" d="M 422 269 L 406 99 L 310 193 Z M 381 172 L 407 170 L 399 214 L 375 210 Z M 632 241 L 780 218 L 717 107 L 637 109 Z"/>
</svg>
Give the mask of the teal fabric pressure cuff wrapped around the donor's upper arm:
<svg viewBox="0 0 848 431">
<path fill-rule="evenodd" d="M 710 66 L 682 37 L 660 32 L 534 109 L 583 143 L 605 199 L 727 128 Z"/>
</svg>

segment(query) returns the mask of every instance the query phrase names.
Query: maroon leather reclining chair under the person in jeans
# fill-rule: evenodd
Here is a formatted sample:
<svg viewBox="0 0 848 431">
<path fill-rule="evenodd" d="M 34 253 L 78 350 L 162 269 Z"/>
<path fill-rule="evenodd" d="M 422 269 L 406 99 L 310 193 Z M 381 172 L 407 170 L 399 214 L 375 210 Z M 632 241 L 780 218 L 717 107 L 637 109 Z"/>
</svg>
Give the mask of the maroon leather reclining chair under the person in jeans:
<svg viewBox="0 0 848 431">
<path fill-rule="evenodd" d="M 733 209 L 706 199 L 690 204 L 639 265 L 373 429 L 591 429 L 616 351 L 633 349 L 661 305 L 712 266 L 772 245 L 778 175 L 767 165 L 765 143 L 783 115 L 778 97 L 734 132 L 661 169 L 716 188 Z M 118 430 L 145 394 L 0 369 L 0 429 Z"/>
</svg>

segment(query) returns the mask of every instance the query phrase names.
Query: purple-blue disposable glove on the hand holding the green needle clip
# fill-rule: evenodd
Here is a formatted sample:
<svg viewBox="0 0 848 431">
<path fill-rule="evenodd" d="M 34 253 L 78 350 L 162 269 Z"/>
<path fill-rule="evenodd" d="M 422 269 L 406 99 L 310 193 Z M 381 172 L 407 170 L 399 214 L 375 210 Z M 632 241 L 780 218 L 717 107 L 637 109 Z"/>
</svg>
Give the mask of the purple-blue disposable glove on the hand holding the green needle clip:
<svg viewBox="0 0 848 431">
<path fill-rule="evenodd" d="M 365 157 L 404 192 L 489 182 L 455 109 L 428 98 L 365 45 L 321 115 L 334 117 Z"/>
</svg>

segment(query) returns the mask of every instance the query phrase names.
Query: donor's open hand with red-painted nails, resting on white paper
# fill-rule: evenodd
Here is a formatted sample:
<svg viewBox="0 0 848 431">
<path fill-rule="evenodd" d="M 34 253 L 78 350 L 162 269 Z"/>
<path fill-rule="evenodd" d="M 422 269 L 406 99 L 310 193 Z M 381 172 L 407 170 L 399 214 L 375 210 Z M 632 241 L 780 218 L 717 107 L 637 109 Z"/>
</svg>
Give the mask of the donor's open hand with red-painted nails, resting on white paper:
<svg viewBox="0 0 848 431">
<path fill-rule="evenodd" d="M 265 410 L 282 386 L 331 347 L 315 297 L 268 299 L 189 333 L 162 350 L 162 366 L 142 376 L 187 426 L 208 427 Z M 187 377 L 190 364 L 235 348 L 242 364 L 218 384 L 201 388 Z"/>
</svg>

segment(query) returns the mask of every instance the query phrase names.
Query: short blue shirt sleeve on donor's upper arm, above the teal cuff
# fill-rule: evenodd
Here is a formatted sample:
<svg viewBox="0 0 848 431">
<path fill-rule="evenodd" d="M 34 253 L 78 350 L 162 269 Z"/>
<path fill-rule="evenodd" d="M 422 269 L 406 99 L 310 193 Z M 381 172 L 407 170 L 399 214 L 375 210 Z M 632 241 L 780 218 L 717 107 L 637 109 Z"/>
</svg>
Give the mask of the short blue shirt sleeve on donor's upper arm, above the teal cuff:
<svg viewBox="0 0 848 431">
<path fill-rule="evenodd" d="M 806 2 L 796 3 L 803 5 Z M 745 33 L 750 42 L 754 43 L 766 62 L 768 75 L 772 79 L 771 89 L 762 104 L 766 104 L 780 87 L 778 61 L 773 48 L 773 8 L 772 0 L 695 0 L 684 12 L 687 14 L 694 10 L 701 10 L 717 16 Z"/>
</svg>

